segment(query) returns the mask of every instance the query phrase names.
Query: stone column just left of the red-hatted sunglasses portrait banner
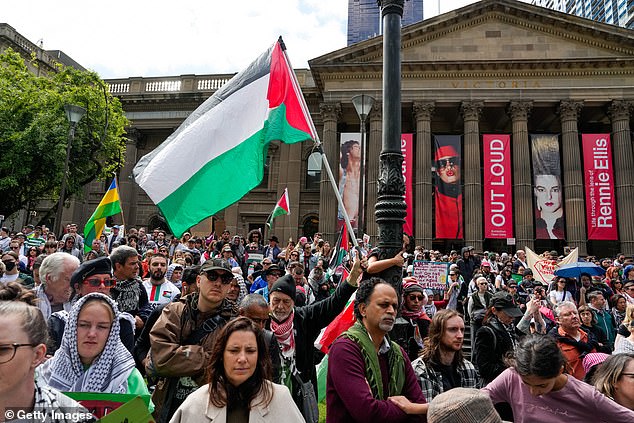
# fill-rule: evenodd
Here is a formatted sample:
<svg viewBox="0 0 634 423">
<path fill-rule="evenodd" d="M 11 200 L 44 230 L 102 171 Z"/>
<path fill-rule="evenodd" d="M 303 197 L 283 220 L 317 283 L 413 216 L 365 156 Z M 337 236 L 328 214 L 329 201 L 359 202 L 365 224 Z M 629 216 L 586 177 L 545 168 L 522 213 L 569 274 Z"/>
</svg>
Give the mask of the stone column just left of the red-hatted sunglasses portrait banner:
<svg viewBox="0 0 634 423">
<path fill-rule="evenodd" d="M 414 102 L 416 120 L 416 160 L 414 169 L 414 230 L 417 245 L 430 249 L 433 241 L 432 228 L 432 177 L 431 177 L 431 116 L 435 104 L 432 101 Z"/>
</svg>

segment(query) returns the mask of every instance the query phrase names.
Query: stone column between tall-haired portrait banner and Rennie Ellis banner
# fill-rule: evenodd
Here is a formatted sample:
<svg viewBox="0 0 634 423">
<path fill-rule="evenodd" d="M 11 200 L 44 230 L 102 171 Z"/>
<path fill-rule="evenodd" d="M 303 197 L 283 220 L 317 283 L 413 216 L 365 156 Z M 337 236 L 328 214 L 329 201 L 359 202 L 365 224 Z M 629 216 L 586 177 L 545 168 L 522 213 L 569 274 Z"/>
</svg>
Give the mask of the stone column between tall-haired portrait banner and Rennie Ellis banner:
<svg viewBox="0 0 634 423">
<path fill-rule="evenodd" d="M 583 200 L 583 163 L 577 119 L 583 102 L 563 100 L 559 104 L 563 149 L 563 182 L 566 216 L 566 242 L 579 248 L 579 256 L 587 255 L 586 213 Z"/>
</svg>

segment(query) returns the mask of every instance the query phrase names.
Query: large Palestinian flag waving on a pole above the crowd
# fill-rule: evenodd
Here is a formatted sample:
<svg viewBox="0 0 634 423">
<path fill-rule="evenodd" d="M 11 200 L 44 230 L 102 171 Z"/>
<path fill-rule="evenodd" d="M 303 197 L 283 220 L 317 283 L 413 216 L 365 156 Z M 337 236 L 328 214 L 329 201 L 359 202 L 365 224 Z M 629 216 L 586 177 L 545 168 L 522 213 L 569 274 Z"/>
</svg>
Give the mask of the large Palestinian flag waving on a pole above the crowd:
<svg viewBox="0 0 634 423">
<path fill-rule="evenodd" d="M 134 168 L 174 235 L 260 184 L 269 143 L 317 135 L 281 38 Z"/>
</svg>

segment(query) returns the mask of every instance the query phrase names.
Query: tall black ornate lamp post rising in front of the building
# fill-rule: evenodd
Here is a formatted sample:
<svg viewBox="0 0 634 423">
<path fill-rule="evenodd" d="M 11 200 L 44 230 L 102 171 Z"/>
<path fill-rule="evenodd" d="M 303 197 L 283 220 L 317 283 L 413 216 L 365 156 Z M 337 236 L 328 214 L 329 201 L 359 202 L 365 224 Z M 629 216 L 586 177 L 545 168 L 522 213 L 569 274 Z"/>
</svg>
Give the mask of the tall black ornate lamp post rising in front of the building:
<svg viewBox="0 0 634 423">
<path fill-rule="evenodd" d="M 404 0 L 379 0 L 383 18 L 383 143 L 379 156 L 376 222 L 378 259 L 396 256 L 403 245 L 405 182 L 401 153 L 401 18 Z M 380 275 L 401 293 L 403 269 L 390 267 Z"/>
</svg>

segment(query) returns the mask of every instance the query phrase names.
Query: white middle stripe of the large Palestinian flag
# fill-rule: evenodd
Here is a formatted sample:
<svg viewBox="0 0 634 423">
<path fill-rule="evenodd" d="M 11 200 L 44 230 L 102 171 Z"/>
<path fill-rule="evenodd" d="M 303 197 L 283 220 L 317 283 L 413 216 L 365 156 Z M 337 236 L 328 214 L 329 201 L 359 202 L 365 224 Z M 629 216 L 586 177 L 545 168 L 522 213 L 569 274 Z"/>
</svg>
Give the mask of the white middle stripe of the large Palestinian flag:
<svg viewBox="0 0 634 423">
<path fill-rule="evenodd" d="M 226 98 L 153 158 L 137 182 L 154 203 L 161 202 L 190 175 L 262 129 L 269 112 L 268 100 L 262 94 L 268 91 L 269 79 L 267 74 Z"/>
</svg>

